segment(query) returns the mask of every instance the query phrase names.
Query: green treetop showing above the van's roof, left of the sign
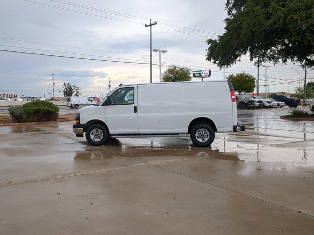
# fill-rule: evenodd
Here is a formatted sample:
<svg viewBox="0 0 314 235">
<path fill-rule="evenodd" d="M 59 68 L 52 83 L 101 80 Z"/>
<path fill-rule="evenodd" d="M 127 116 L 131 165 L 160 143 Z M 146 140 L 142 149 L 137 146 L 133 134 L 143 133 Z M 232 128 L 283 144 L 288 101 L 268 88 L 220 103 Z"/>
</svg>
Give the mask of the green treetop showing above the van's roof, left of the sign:
<svg viewBox="0 0 314 235">
<path fill-rule="evenodd" d="M 163 82 L 188 82 L 192 80 L 191 70 L 185 66 L 172 65 L 162 73 L 161 79 Z"/>
</svg>

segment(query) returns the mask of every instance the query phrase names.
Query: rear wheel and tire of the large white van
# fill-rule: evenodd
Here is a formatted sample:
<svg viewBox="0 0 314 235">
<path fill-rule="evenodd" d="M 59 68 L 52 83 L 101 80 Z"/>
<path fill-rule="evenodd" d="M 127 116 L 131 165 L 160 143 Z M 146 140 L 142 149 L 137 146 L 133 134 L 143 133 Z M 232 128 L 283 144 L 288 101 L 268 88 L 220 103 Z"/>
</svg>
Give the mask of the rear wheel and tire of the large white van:
<svg viewBox="0 0 314 235">
<path fill-rule="evenodd" d="M 204 139 L 202 139 L 204 137 Z M 207 147 L 215 139 L 214 129 L 206 123 L 193 126 L 190 133 L 191 141 L 198 147 Z"/>
</svg>

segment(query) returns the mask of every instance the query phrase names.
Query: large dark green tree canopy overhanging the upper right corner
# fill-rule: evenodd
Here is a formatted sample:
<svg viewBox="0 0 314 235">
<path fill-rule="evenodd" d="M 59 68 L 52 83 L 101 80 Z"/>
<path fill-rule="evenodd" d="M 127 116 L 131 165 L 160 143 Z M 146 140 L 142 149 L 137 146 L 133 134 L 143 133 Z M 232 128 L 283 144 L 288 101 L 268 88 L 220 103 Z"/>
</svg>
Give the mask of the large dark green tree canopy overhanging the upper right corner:
<svg viewBox="0 0 314 235">
<path fill-rule="evenodd" d="M 314 0 L 227 0 L 225 32 L 208 39 L 207 60 L 231 66 L 288 60 L 314 67 Z"/>
</svg>

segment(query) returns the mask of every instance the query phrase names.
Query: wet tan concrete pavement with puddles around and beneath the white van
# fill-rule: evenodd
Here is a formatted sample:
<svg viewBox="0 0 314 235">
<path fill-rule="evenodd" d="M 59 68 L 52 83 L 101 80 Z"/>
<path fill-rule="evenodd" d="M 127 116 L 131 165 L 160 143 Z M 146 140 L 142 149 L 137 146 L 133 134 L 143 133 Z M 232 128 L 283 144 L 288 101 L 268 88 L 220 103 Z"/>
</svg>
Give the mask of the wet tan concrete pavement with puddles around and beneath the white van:
<svg viewBox="0 0 314 235">
<path fill-rule="evenodd" d="M 71 122 L 0 127 L 1 234 L 313 234 L 314 123 L 90 146 Z"/>
</svg>

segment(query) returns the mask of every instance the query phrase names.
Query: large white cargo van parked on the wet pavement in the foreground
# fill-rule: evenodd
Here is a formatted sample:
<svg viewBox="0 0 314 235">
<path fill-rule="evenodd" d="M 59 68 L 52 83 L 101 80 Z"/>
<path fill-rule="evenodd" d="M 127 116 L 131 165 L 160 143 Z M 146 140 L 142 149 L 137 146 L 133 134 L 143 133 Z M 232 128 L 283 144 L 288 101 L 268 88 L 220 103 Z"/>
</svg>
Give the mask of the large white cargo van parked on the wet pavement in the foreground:
<svg viewBox="0 0 314 235">
<path fill-rule="evenodd" d="M 111 138 L 182 137 L 208 146 L 215 132 L 245 130 L 237 123 L 235 92 L 229 81 L 123 85 L 99 104 L 82 108 L 73 132 L 92 145 Z"/>
</svg>

